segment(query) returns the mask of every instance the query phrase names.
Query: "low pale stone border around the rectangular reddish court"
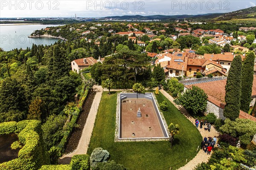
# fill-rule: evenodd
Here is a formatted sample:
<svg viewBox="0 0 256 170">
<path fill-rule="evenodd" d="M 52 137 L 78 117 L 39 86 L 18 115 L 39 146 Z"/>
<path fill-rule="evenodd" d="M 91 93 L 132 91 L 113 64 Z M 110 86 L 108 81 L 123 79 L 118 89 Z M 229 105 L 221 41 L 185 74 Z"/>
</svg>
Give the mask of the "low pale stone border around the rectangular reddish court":
<svg viewBox="0 0 256 170">
<path fill-rule="evenodd" d="M 124 92 L 122 92 L 124 93 Z M 125 93 L 127 93 L 125 91 Z M 157 108 L 160 112 L 160 116 L 161 116 L 161 119 L 163 120 L 163 124 L 167 130 L 167 133 L 169 136 L 171 136 L 169 130 L 168 130 L 168 125 L 166 123 L 166 120 L 164 119 L 164 116 L 163 116 L 163 113 L 160 111 L 159 109 L 159 104 L 157 102 L 157 99 L 156 99 L 156 96 L 151 93 L 156 104 L 157 104 Z M 120 93 L 117 94 L 117 99 L 116 99 L 116 130 L 115 130 L 115 139 L 114 139 L 114 142 L 145 142 L 145 141 L 169 141 L 170 138 L 166 139 L 166 138 L 147 138 L 147 139 L 118 139 L 118 131 L 119 131 L 119 105 L 120 105 Z"/>
</svg>

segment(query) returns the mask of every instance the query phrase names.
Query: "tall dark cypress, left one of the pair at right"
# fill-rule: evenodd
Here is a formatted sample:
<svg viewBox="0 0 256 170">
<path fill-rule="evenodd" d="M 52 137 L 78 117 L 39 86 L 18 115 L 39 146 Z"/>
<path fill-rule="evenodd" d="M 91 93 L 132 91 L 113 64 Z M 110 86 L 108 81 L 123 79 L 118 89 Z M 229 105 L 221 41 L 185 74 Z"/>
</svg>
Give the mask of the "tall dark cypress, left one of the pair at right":
<svg viewBox="0 0 256 170">
<path fill-rule="evenodd" d="M 240 100 L 241 100 L 241 56 L 236 56 L 231 63 L 226 84 L 226 106 L 224 108 L 224 116 L 231 120 L 239 117 Z"/>
</svg>

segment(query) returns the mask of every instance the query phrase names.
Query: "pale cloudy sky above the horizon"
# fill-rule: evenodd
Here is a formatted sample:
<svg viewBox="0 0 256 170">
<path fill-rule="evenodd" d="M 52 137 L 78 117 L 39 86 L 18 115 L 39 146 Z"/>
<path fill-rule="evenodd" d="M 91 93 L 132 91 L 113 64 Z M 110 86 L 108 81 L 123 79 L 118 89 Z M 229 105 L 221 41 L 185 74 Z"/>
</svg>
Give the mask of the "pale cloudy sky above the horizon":
<svg viewBox="0 0 256 170">
<path fill-rule="evenodd" d="M 225 13 L 256 0 L 0 0 L 0 17 L 107 17 Z"/>
</svg>

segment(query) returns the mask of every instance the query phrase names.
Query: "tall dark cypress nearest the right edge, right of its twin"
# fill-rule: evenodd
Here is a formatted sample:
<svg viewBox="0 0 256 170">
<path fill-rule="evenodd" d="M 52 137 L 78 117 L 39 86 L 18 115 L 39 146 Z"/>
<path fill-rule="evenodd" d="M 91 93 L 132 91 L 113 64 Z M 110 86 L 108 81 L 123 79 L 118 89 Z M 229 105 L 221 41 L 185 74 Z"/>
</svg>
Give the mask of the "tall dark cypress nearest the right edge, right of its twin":
<svg viewBox="0 0 256 170">
<path fill-rule="evenodd" d="M 248 113 L 250 109 L 252 86 L 253 86 L 253 66 L 255 55 L 250 52 L 244 60 L 242 67 L 242 88 L 241 88 L 241 106 L 240 109 Z"/>
</svg>

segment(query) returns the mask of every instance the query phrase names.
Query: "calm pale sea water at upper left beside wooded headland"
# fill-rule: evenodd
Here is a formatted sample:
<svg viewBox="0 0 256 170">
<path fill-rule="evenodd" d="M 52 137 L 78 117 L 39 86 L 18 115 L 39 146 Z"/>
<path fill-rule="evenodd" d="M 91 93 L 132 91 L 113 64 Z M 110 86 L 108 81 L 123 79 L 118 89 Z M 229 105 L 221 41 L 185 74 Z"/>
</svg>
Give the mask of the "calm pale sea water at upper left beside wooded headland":
<svg viewBox="0 0 256 170">
<path fill-rule="evenodd" d="M 32 47 L 32 44 L 50 45 L 58 39 L 55 38 L 28 38 L 35 30 L 58 25 L 1 25 L 0 26 L 0 48 L 4 51 L 11 51 L 14 48 Z"/>
</svg>

